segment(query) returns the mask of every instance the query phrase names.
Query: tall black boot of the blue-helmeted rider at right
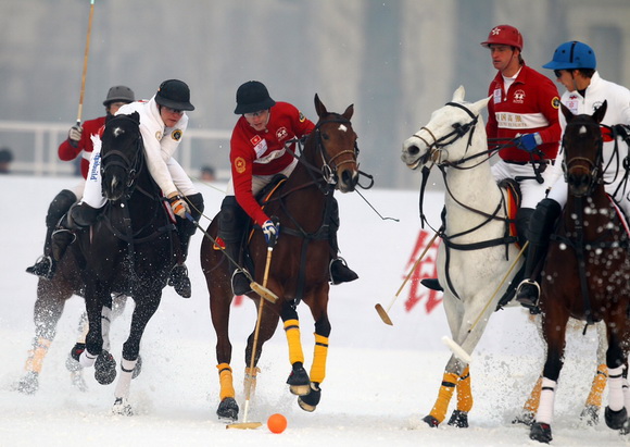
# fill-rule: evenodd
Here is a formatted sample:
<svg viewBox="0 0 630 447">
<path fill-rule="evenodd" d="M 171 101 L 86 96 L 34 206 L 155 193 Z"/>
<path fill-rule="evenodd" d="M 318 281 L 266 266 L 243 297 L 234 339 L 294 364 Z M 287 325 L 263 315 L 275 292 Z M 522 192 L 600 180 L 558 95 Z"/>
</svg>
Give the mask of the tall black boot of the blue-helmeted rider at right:
<svg viewBox="0 0 630 447">
<path fill-rule="evenodd" d="M 518 285 L 516 300 L 524 307 L 533 310 L 540 296 L 540 272 L 546 257 L 549 239 L 562 208 L 553 199 L 541 200 L 533 211 L 529 228 L 529 248 L 525 260 L 525 280 Z"/>
</svg>

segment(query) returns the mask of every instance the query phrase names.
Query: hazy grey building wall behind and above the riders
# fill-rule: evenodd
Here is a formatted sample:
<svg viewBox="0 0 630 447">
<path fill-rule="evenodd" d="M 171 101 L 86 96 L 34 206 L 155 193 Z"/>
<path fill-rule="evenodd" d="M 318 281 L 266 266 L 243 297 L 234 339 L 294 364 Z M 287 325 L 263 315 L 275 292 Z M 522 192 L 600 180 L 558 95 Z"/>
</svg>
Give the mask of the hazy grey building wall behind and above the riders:
<svg viewBox="0 0 630 447">
<path fill-rule="evenodd" d="M 0 121 L 72 125 L 77 115 L 89 0 L 2 0 Z M 377 186 L 416 188 L 402 141 L 461 84 L 487 95 L 494 76 L 479 46 L 497 24 L 525 37 L 526 62 L 542 70 L 557 45 L 578 39 L 604 78 L 630 86 L 627 0 L 96 0 L 84 120 L 103 113 L 112 85 L 149 98 L 167 78 L 186 80 L 191 127 L 231 129 L 235 92 L 249 79 L 315 119 L 355 104 L 362 170 Z M 0 134 L 16 160 L 33 157 L 20 135 Z M 225 142 L 197 148 L 191 169 L 227 167 Z M 194 174 L 194 173 L 192 173 Z"/>
</svg>

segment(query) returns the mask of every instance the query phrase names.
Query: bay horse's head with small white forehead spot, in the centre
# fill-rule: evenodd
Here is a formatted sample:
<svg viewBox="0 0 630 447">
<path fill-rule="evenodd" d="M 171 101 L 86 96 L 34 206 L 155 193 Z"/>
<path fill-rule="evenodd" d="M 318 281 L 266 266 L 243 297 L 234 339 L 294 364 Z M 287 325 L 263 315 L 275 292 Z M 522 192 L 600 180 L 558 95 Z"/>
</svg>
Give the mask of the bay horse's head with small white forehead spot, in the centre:
<svg viewBox="0 0 630 447">
<path fill-rule="evenodd" d="M 357 137 L 350 122 L 354 105 L 349 105 L 342 114 L 331 113 L 315 95 L 315 111 L 319 121 L 312 135 L 317 149 L 311 162 L 322 170 L 326 182 L 335 184 L 341 193 L 353 191 L 358 182 Z"/>
</svg>

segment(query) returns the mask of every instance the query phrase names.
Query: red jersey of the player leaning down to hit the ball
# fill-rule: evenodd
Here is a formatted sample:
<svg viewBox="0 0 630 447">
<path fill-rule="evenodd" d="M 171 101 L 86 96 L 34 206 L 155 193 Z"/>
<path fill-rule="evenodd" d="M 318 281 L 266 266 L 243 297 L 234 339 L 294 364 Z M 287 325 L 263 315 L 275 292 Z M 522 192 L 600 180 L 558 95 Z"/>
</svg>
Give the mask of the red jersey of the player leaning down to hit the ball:
<svg viewBox="0 0 630 447">
<path fill-rule="evenodd" d="M 293 161 L 295 152 L 295 144 L 285 144 L 302 138 L 314 128 L 313 122 L 287 102 L 276 102 L 270 109 L 265 131 L 255 131 L 244 116 L 238 120 L 229 153 L 235 197 L 259 225 L 268 218 L 252 194 L 252 176 L 274 175 L 285 170 Z"/>
</svg>

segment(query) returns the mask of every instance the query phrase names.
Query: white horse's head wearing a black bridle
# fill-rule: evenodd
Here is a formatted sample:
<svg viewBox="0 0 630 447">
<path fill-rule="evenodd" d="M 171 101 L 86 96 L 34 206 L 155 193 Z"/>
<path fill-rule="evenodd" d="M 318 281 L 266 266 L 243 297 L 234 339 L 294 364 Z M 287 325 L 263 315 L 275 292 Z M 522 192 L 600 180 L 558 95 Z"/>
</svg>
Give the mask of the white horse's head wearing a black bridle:
<svg viewBox="0 0 630 447">
<path fill-rule="evenodd" d="M 486 129 L 479 113 L 490 98 L 475 103 L 464 101 L 459 86 L 453 99 L 431 114 L 428 124 L 403 142 L 402 161 L 412 170 L 428 162 L 444 163 L 464 159 L 471 146 L 486 144 Z"/>
</svg>

